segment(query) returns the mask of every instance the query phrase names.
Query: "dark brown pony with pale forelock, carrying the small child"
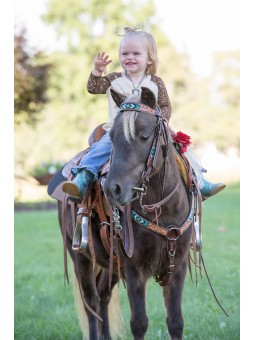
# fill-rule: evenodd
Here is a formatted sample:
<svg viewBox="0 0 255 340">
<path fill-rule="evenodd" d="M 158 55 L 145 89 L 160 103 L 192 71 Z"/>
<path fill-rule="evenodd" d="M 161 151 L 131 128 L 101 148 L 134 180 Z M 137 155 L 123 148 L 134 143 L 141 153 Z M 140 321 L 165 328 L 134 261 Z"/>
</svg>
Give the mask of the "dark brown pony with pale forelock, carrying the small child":
<svg viewBox="0 0 255 340">
<path fill-rule="evenodd" d="M 120 110 L 110 132 L 109 171 L 101 180 L 111 207 L 110 227 L 103 223 L 109 228 L 110 255 L 102 242 L 102 221 L 93 204 L 87 216 L 88 239 L 93 246 L 78 252 L 72 246 L 75 227 L 71 206 L 58 206 L 65 248 L 78 282 L 78 300 L 88 319 L 89 339 L 124 336 L 123 329 L 110 334 L 112 311 L 108 310 L 120 277 L 127 287 L 133 338 L 144 339 L 148 328 L 145 290 L 148 279 L 153 277 L 163 287 L 170 337 L 182 339 L 182 293 L 192 240 L 195 248 L 195 186 L 189 175 L 185 180 L 180 171 L 180 155 L 152 91 L 142 88 L 140 96 L 129 98 L 111 92 Z M 114 257 L 118 259 L 115 264 Z M 119 314 L 118 320 L 115 325 L 121 325 Z"/>
</svg>

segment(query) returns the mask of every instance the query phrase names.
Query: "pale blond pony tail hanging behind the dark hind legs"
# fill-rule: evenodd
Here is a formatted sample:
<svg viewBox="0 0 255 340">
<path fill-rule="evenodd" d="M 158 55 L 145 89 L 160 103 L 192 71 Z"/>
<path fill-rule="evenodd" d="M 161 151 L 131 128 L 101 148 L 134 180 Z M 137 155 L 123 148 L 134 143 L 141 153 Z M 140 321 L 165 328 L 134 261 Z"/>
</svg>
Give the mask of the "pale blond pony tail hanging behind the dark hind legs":
<svg viewBox="0 0 255 340">
<path fill-rule="evenodd" d="M 88 339 L 89 338 L 88 318 L 87 318 L 87 314 L 84 309 L 80 286 L 79 286 L 79 282 L 78 282 L 74 269 L 73 269 L 73 294 L 74 294 L 76 311 L 77 311 L 78 319 L 80 323 L 80 328 L 83 334 L 83 339 Z M 111 332 L 112 338 L 113 339 L 125 339 L 124 321 L 123 321 L 122 313 L 120 309 L 119 290 L 118 290 L 117 285 L 115 285 L 112 291 L 112 297 L 111 297 L 109 307 L 108 307 L 108 315 L 109 315 L 109 325 L 110 325 L 110 332 Z"/>
</svg>

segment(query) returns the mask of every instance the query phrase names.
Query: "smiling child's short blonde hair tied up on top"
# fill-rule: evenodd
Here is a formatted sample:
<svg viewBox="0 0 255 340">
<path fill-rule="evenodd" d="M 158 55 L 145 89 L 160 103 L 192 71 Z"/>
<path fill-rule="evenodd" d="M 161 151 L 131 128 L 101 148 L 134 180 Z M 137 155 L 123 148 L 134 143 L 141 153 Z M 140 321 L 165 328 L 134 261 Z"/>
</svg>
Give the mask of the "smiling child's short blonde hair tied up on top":
<svg viewBox="0 0 255 340">
<path fill-rule="evenodd" d="M 155 75 L 157 73 L 157 66 L 158 66 L 158 52 L 157 52 L 157 45 L 156 45 L 156 42 L 153 36 L 150 33 L 141 30 L 139 26 L 136 26 L 134 29 L 131 27 L 125 27 L 124 31 L 125 33 L 124 35 L 122 35 L 123 38 L 121 39 L 121 42 L 123 41 L 123 39 L 129 38 L 129 37 L 137 37 L 137 38 L 143 39 L 148 56 L 150 60 L 152 61 L 152 64 L 147 66 L 146 73 Z M 120 42 L 120 47 L 121 47 L 121 42 Z"/>
</svg>

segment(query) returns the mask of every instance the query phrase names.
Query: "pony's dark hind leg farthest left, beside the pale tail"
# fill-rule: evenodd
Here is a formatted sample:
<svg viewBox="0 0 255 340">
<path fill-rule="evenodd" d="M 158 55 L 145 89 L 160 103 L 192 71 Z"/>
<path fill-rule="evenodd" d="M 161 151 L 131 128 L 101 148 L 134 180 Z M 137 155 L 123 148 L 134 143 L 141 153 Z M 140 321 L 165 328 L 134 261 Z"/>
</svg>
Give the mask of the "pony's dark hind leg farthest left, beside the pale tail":
<svg viewBox="0 0 255 340">
<path fill-rule="evenodd" d="M 95 273 L 93 272 L 91 260 L 83 254 L 77 254 L 74 268 L 79 282 L 80 293 L 84 299 L 84 309 L 88 317 L 89 339 L 98 340 L 98 319 L 86 308 L 84 302 L 86 301 L 89 307 L 95 313 L 98 313 L 100 298 L 97 293 Z"/>
</svg>

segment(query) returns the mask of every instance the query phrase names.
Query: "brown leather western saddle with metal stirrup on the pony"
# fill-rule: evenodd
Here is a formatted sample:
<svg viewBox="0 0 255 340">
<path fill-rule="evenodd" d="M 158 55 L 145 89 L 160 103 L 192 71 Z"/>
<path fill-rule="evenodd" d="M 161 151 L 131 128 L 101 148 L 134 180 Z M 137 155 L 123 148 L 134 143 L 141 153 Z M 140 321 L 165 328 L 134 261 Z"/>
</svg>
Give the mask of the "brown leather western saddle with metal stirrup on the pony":
<svg viewBox="0 0 255 340">
<path fill-rule="evenodd" d="M 88 143 L 89 147 L 97 141 L 99 141 L 105 134 L 103 129 L 104 124 L 97 126 L 89 136 Z M 99 170 L 98 181 L 92 183 L 89 187 L 88 195 L 83 198 L 83 201 L 79 205 L 68 199 L 67 195 L 62 191 L 62 185 L 67 180 L 72 180 L 73 175 L 71 169 L 79 165 L 84 154 L 88 152 L 89 148 L 78 152 L 69 162 L 67 162 L 61 170 L 59 170 L 50 183 L 48 184 L 47 192 L 48 195 L 57 201 L 62 202 L 62 229 L 63 235 L 66 233 L 66 213 L 67 204 L 71 206 L 73 225 L 75 225 L 72 241 L 72 249 L 75 252 L 84 252 L 89 246 L 90 253 L 92 256 L 93 267 L 95 268 L 95 252 L 93 242 L 91 238 L 91 219 L 94 218 L 95 213 L 98 214 L 101 225 L 100 225 L 100 237 L 105 248 L 105 251 L 110 258 L 110 263 L 118 267 L 119 276 L 123 279 L 124 274 L 122 271 L 122 264 L 120 258 L 112 251 L 113 249 L 113 235 L 111 235 L 110 225 L 112 223 L 113 214 L 111 208 L 106 202 L 106 198 L 103 194 L 101 181 L 106 177 L 109 171 L 110 162 L 106 162 Z M 120 235 L 119 235 L 120 236 Z M 64 248 L 66 244 L 64 242 Z M 66 252 L 66 249 L 65 249 Z M 66 257 L 66 256 L 65 256 Z M 67 261 L 65 259 L 65 276 L 68 280 L 67 272 Z"/>
</svg>

